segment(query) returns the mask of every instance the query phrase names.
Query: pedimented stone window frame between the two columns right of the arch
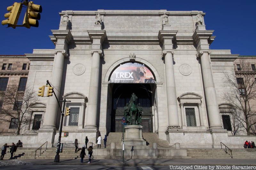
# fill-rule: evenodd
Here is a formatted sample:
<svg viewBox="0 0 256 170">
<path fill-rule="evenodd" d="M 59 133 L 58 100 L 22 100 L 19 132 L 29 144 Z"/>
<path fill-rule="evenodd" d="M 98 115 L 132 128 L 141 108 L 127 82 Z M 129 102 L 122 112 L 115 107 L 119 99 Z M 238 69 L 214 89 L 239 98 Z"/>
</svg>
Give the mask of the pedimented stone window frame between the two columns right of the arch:
<svg viewBox="0 0 256 170">
<path fill-rule="evenodd" d="M 194 92 L 183 93 L 178 97 L 182 129 L 205 127 L 202 113 L 202 98 L 203 97 L 201 95 Z M 195 108 L 196 126 L 187 126 L 185 111 L 186 107 Z"/>
</svg>

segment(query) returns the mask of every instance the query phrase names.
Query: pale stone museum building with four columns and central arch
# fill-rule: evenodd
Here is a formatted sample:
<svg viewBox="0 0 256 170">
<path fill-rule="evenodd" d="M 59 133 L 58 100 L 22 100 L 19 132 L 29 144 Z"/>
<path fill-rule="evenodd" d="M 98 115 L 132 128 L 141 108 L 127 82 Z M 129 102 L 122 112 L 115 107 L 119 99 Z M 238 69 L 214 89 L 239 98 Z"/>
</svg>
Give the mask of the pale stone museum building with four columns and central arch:
<svg viewBox="0 0 256 170">
<path fill-rule="evenodd" d="M 238 55 L 212 50 L 215 36 L 206 30 L 203 11 L 98 10 L 62 11 L 55 49 L 34 49 L 27 87 L 38 91 L 46 80 L 59 100 L 67 99 L 62 140 L 122 131 L 124 107 L 132 93 L 143 114 L 143 132 L 156 133 L 181 147 L 234 147 L 244 143 L 223 128 L 227 101 L 224 72 L 234 73 Z M 38 97 L 33 116 L 38 130 L 23 134 L 41 144 L 58 140 L 60 108 L 54 96 Z M 225 106 L 225 107 L 224 107 Z M 222 110 L 221 110 L 222 109 Z M 222 113 L 222 115 L 221 115 Z M 224 113 L 224 114 L 223 114 Z M 225 117 L 225 116 L 224 116 Z M 241 132 L 241 135 L 243 132 Z M 235 139 L 235 140 L 234 140 Z"/>
</svg>

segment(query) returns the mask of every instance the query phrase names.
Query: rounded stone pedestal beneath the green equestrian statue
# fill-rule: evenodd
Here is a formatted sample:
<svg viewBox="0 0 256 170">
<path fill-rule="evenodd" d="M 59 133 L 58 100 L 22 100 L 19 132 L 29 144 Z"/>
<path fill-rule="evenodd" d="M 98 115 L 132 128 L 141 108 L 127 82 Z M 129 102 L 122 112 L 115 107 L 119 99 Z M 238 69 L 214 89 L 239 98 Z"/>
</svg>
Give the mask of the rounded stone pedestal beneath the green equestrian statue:
<svg viewBox="0 0 256 170">
<path fill-rule="evenodd" d="M 125 145 L 146 145 L 146 141 L 142 138 L 142 126 L 128 125 L 125 128 Z"/>
</svg>

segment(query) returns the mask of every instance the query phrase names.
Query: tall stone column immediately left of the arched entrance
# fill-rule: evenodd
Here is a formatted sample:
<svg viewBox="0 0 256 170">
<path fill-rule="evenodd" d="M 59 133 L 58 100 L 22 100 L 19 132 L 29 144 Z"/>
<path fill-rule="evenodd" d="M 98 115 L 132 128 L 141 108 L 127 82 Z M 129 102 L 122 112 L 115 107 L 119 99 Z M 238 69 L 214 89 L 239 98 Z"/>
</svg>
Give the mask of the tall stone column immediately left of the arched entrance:
<svg viewBox="0 0 256 170">
<path fill-rule="evenodd" d="M 99 78 L 100 78 L 100 54 L 101 50 L 91 50 L 92 53 L 92 67 L 91 78 L 88 96 L 88 111 L 86 117 L 85 128 L 97 129 L 97 107 L 98 107 L 98 92 L 99 92 Z"/>
</svg>

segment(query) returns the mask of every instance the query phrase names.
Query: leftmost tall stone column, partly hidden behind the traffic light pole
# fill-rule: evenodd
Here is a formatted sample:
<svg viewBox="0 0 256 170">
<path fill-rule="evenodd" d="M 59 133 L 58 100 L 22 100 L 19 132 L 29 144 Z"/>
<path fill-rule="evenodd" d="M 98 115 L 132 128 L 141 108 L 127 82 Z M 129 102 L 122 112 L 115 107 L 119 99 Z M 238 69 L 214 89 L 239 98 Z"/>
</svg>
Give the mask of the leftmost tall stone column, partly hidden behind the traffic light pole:
<svg viewBox="0 0 256 170">
<path fill-rule="evenodd" d="M 64 57 L 66 55 L 66 50 L 55 49 L 54 53 L 56 55 L 54 57 L 54 65 L 52 69 L 52 80 L 50 81 L 50 83 L 54 85 L 53 90 L 56 96 L 58 97 L 60 95 L 60 85 L 61 85 L 63 63 L 64 63 Z M 56 122 L 57 109 L 58 109 L 58 101 L 54 96 L 49 97 L 46 111 L 45 111 L 43 128 L 56 129 L 55 122 Z"/>
</svg>

